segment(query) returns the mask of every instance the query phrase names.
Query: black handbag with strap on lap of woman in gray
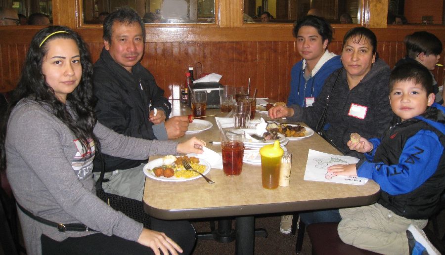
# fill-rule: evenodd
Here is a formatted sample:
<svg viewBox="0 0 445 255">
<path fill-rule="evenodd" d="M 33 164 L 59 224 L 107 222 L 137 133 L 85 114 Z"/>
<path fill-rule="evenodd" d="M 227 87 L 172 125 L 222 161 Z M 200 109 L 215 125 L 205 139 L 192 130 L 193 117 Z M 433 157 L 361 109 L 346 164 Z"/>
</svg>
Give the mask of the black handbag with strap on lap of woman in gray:
<svg viewBox="0 0 445 255">
<path fill-rule="evenodd" d="M 114 210 L 124 213 L 135 221 L 142 223 L 145 228 L 150 229 L 150 215 L 145 213 L 142 201 L 107 193 L 103 190 L 102 182 L 105 175 L 105 168 L 102 153 L 99 152 L 98 154 L 100 156 L 102 170 L 100 171 L 99 179 L 96 182 L 96 196 L 111 206 Z"/>
</svg>

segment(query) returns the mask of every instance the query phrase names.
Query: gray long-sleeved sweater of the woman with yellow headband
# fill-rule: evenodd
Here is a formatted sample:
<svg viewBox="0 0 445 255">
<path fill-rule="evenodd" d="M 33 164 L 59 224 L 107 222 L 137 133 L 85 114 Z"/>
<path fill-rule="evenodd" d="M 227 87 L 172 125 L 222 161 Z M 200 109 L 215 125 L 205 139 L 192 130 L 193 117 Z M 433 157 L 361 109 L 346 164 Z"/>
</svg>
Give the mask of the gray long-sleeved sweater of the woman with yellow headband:
<svg viewBox="0 0 445 255">
<path fill-rule="evenodd" d="M 97 124 L 94 133 L 103 153 L 146 159 L 176 154 L 177 142 L 143 140 L 117 134 Z M 114 211 L 95 195 L 94 149 L 83 153 L 74 134 L 35 101 L 25 99 L 13 109 L 7 127 L 6 173 L 17 202 L 47 220 L 83 223 L 105 235 L 136 241 L 142 224 Z M 35 221 L 18 209 L 28 254 L 41 254 L 42 234 L 62 241 L 96 232 L 65 233 Z"/>
</svg>

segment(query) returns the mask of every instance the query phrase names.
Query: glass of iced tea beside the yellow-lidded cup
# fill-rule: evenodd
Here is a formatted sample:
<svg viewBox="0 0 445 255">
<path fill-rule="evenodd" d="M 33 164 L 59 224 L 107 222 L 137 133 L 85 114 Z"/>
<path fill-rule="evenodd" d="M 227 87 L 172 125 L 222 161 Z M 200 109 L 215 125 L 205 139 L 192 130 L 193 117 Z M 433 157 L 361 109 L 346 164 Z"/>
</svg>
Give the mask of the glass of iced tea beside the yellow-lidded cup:
<svg viewBox="0 0 445 255">
<path fill-rule="evenodd" d="M 244 136 L 240 129 L 225 129 L 221 137 L 221 151 L 223 153 L 223 171 L 225 175 L 240 175 L 243 169 Z"/>
</svg>

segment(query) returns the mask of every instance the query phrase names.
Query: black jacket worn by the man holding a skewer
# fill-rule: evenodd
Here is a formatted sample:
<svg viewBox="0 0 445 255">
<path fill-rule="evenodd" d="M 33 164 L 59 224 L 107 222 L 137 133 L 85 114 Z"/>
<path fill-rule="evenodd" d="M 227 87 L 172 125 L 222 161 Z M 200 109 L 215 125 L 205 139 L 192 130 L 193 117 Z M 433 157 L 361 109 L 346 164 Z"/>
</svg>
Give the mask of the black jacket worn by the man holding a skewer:
<svg viewBox="0 0 445 255">
<path fill-rule="evenodd" d="M 164 90 L 156 85 L 153 75 L 140 63 L 134 65 L 132 73 L 116 63 L 108 50 L 102 49 L 100 58 L 94 64 L 94 95 L 97 98 L 98 121 L 117 133 L 154 140 L 153 123 L 148 114 L 154 108 L 162 108 L 166 116 L 172 107 Z M 151 103 L 151 106 L 149 107 Z M 147 160 L 129 160 L 104 156 L 105 171 L 130 169 Z M 94 171 L 100 171 L 99 157 L 94 160 Z"/>
</svg>

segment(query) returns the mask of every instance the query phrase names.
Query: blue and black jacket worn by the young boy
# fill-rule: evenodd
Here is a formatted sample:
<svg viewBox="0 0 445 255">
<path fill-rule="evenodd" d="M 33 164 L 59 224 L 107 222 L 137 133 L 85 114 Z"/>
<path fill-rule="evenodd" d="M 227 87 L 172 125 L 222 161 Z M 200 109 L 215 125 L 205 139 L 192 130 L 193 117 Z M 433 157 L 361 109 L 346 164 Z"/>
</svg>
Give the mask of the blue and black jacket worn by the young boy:
<svg viewBox="0 0 445 255">
<path fill-rule="evenodd" d="M 445 189 L 445 107 L 434 103 L 415 118 L 390 127 L 357 164 L 357 175 L 380 185 L 377 203 L 409 219 L 428 219 Z"/>
</svg>

